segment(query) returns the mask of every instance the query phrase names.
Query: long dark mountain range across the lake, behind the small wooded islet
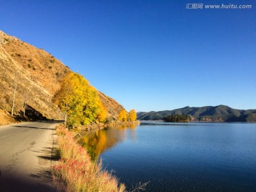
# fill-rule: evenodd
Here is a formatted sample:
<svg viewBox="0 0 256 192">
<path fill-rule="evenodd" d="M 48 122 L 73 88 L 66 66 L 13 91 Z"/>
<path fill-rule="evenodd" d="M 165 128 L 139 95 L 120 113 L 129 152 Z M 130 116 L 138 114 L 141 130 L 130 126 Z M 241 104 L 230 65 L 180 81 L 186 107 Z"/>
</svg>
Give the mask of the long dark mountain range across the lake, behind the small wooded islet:
<svg viewBox="0 0 256 192">
<path fill-rule="evenodd" d="M 183 107 L 159 112 L 138 112 L 140 120 L 162 120 L 171 114 L 187 114 L 191 121 L 203 122 L 256 122 L 256 110 L 235 110 L 225 105 Z"/>
</svg>

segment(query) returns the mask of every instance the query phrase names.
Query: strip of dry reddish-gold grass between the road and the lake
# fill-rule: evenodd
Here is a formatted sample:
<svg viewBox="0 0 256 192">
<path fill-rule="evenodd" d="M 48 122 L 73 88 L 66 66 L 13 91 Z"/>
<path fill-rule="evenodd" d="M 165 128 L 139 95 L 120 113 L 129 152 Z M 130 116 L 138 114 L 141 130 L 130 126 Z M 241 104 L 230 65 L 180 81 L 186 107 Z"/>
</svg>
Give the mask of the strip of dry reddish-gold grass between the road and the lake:
<svg viewBox="0 0 256 192">
<path fill-rule="evenodd" d="M 95 163 L 87 151 L 75 142 L 72 134 L 58 127 L 60 163 L 53 167 L 55 181 L 60 191 L 125 191 L 124 184 L 102 170 L 101 162 Z"/>
</svg>

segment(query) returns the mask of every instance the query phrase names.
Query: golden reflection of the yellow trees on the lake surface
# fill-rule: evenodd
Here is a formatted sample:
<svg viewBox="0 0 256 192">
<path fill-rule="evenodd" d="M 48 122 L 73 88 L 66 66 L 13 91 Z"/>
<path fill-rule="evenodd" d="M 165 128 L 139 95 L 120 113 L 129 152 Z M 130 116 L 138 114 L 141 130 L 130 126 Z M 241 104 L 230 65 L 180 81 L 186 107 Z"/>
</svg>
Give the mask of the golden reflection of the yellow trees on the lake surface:
<svg viewBox="0 0 256 192">
<path fill-rule="evenodd" d="M 122 125 L 119 127 L 110 127 L 107 129 L 94 130 L 86 132 L 79 138 L 78 142 L 87 149 L 93 160 L 103 151 L 110 149 L 119 142 L 130 137 L 132 141 L 136 140 L 136 125 Z"/>
</svg>

